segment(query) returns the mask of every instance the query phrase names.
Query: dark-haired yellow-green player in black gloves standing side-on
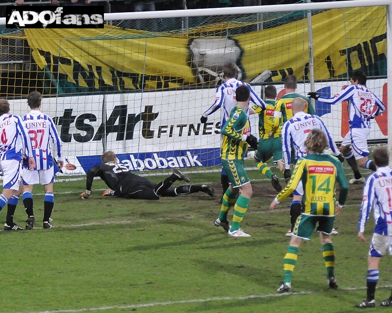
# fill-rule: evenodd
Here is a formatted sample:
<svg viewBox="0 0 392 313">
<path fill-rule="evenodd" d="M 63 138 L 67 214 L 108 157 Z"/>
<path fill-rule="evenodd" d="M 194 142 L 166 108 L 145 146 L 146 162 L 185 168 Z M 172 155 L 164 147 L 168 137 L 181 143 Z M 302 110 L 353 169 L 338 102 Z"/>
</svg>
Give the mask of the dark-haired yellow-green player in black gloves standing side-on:
<svg viewBox="0 0 392 313">
<path fill-rule="evenodd" d="M 250 125 L 246 114 L 250 99 L 249 87 L 238 87 L 236 99 L 237 105 L 231 110 L 227 122 L 222 127 L 221 162 L 230 185 L 223 195 L 221 213 L 214 221 L 214 225 L 222 226 L 230 237 L 250 237 L 240 228 L 252 196 L 252 186 L 245 172 L 244 157 L 248 144 L 257 149 L 258 140 L 250 134 Z M 236 201 L 239 191 L 241 191 L 241 195 Z M 227 214 L 231 206 L 234 206 L 234 216 L 230 227 Z"/>
</svg>

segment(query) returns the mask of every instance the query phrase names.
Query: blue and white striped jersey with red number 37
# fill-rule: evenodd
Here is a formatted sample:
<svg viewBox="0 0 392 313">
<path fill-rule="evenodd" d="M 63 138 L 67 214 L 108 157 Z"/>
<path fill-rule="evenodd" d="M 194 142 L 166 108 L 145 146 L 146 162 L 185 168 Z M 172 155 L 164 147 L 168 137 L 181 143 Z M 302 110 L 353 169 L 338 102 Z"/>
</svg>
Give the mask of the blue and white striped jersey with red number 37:
<svg viewBox="0 0 392 313">
<path fill-rule="evenodd" d="M 57 157 L 62 161 L 61 141 L 51 117 L 39 110 L 31 110 L 23 116 L 25 127 L 30 136 L 36 167 L 34 170 L 48 170 L 53 166 L 50 138 Z"/>
</svg>

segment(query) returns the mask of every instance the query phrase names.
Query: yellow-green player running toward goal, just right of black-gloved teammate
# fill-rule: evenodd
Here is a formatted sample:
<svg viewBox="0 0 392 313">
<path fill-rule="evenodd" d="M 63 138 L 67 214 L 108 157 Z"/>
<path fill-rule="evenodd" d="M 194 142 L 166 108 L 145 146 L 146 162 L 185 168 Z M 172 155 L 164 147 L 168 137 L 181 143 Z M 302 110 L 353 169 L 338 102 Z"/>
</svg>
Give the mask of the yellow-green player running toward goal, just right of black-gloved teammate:
<svg viewBox="0 0 392 313">
<path fill-rule="evenodd" d="M 276 191 L 281 191 L 282 186 L 279 183 L 279 178 L 272 173 L 266 162 L 273 157 L 273 163 L 277 164 L 279 170 L 284 170 L 282 162 L 282 120 L 280 119 L 280 112 L 275 111 L 276 88 L 269 85 L 264 89 L 264 102 L 267 105 L 266 110 L 258 106 L 252 106 L 255 113 L 259 114 L 259 144 L 254 161 L 261 173 L 271 179 L 272 186 Z M 279 124 L 275 133 L 272 133 L 272 126 L 274 119 Z"/>
</svg>

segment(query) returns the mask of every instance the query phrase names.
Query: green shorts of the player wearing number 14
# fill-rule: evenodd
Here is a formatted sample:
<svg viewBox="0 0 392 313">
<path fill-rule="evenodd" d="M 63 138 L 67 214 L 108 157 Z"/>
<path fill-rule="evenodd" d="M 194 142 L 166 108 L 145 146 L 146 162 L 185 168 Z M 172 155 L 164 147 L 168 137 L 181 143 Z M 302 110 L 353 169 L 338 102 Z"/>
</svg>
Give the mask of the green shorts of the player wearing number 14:
<svg viewBox="0 0 392 313">
<path fill-rule="evenodd" d="M 305 240 L 309 240 L 317 226 L 317 222 L 319 222 L 317 231 L 321 231 L 324 235 L 332 234 L 335 216 L 301 214 L 298 216 L 295 222 L 293 235 Z"/>
</svg>

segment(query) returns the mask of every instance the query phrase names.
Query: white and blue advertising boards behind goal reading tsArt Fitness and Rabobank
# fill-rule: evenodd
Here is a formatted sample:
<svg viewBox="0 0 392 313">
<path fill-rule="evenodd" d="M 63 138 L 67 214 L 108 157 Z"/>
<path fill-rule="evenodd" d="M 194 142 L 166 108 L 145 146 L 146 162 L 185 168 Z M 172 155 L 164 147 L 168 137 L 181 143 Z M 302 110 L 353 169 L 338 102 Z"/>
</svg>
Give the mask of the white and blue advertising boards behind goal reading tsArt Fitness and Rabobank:
<svg viewBox="0 0 392 313">
<path fill-rule="evenodd" d="M 323 96 L 334 96 L 347 82 L 316 84 Z M 368 80 L 368 88 L 387 105 L 386 79 Z M 275 85 L 278 97 L 282 85 Z M 254 87 L 260 95 L 261 86 Z M 297 92 L 310 91 L 299 84 Z M 65 175 L 85 174 L 101 163 L 104 151 L 114 151 L 130 171 L 192 169 L 221 164 L 221 111 L 200 122 L 215 100 L 215 89 L 169 90 L 86 96 L 50 97 L 41 111 L 55 121 L 62 142 Z M 26 99 L 11 100 L 11 113 L 29 112 Z M 347 103 L 315 103 L 336 142 L 348 132 Z M 258 116 L 251 115 L 252 134 L 258 136 Z M 368 139 L 387 138 L 387 112 L 372 121 Z"/>
</svg>

